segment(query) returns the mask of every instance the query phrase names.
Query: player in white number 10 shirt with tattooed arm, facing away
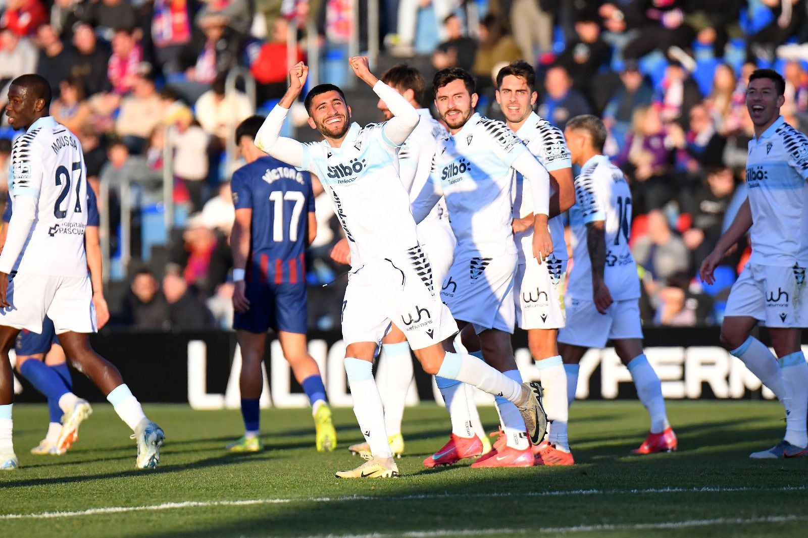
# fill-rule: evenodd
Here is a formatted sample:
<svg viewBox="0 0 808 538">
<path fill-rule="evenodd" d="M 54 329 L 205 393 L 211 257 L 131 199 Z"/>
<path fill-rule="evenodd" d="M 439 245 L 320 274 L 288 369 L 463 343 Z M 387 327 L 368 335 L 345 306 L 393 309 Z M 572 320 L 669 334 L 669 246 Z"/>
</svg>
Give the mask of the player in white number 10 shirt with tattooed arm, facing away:
<svg viewBox="0 0 808 538">
<path fill-rule="evenodd" d="M 632 452 L 671 452 L 676 436 L 667 421 L 662 384 L 642 351 L 640 280 L 629 250 L 629 183 L 603 154 L 607 132 L 599 118 L 575 116 L 564 136 L 572 163 L 581 167 L 575 178 L 576 204 L 570 208 L 574 265 L 564 298 L 566 326 L 558 332 L 567 399 L 571 405 L 583 354 L 612 340 L 650 414 L 650 433 Z"/>
</svg>

